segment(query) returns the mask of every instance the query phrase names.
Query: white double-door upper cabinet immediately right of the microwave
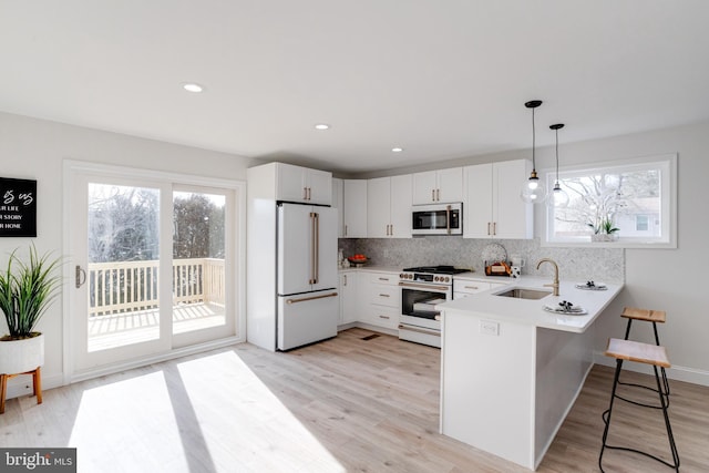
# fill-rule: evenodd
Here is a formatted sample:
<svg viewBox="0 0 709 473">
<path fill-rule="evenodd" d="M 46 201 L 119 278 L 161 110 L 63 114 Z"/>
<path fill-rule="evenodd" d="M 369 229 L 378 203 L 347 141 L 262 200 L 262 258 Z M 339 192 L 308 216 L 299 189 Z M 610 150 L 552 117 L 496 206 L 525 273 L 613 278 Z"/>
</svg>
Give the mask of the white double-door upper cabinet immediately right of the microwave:
<svg viewBox="0 0 709 473">
<path fill-rule="evenodd" d="M 520 198 L 531 168 L 526 160 L 464 167 L 464 238 L 533 238 L 533 207 Z"/>
</svg>

